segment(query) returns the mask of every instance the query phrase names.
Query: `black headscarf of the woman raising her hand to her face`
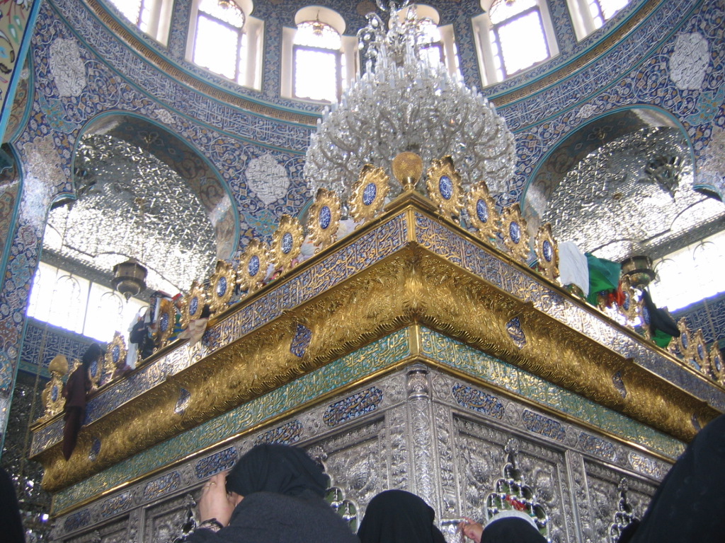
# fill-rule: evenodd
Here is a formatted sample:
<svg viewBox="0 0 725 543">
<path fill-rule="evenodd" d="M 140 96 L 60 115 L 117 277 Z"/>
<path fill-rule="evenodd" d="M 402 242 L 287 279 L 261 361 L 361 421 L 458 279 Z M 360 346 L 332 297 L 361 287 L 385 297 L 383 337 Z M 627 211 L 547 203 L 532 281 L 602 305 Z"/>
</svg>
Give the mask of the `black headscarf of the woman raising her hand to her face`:
<svg viewBox="0 0 725 543">
<path fill-rule="evenodd" d="M 248 496 L 276 492 L 299 496 L 312 492 L 324 497 L 330 485 L 322 466 L 304 450 L 287 445 L 257 445 L 242 456 L 227 475 L 227 492 Z"/>
</svg>

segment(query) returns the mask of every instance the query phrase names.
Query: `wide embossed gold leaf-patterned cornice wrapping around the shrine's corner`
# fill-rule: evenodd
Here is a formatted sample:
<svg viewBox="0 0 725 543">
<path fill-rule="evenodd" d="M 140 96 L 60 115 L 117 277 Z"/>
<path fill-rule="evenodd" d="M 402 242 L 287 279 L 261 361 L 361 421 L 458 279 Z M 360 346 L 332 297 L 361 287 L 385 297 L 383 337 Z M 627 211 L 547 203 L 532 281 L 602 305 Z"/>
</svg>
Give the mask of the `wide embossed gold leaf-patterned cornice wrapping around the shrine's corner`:
<svg viewBox="0 0 725 543">
<path fill-rule="evenodd" d="M 416 215 L 429 219 L 436 215 L 430 203 L 426 208 L 419 200 L 413 193 L 407 203 L 395 203 L 396 214 L 407 209 L 403 216 L 409 232 L 409 241 L 398 251 L 253 332 L 233 338 L 227 346 L 92 422 L 81 430 L 69 461 L 62 458 L 60 444 L 36 455 L 34 460 L 46 468 L 46 489 L 56 492 L 86 479 L 389 332 L 415 324 L 463 341 L 679 439 L 694 436 L 693 418 L 705 424 L 718 414 L 674 384 L 522 301 L 523 292 L 505 292 L 416 243 Z M 384 229 L 390 213 L 360 229 L 349 243 L 378 227 Z M 473 235 L 459 233 L 484 248 Z M 502 261 L 509 258 L 494 249 L 485 250 Z M 229 308 L 220 319 L 233 316 L 258 296 L 285 288 L 297 274 L 328 256 L 323 251 L 310 258 L 289 277 Z M 521 265 L 510 265 L 518 273 L 538 277 Z M 566 296 L 563 290 L 551 289 L 551 295 Z M 303 348 L 299 348 L 300 329 L 306 333 Z M 91 461 L 94 437 L 103 445 Z"/>
</svg>

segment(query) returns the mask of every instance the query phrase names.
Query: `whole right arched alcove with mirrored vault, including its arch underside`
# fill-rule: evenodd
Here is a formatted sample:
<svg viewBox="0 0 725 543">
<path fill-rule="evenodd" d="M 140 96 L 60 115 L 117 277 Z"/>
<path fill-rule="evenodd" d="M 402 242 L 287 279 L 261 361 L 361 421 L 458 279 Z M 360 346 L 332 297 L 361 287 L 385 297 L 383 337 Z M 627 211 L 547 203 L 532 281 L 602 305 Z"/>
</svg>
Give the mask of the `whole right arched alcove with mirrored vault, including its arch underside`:
<svg viewBox="0 0 725 543">
<path fill-rule="evenodd" d="M 550 222 L 560 241 L 614 261 L 663 256 L 722 230 L 722 203 L 695 190 L 682 125 L 653 106 L 619 109 L 568 135 L 523 194 L 531 232 Z"/>
</svg>

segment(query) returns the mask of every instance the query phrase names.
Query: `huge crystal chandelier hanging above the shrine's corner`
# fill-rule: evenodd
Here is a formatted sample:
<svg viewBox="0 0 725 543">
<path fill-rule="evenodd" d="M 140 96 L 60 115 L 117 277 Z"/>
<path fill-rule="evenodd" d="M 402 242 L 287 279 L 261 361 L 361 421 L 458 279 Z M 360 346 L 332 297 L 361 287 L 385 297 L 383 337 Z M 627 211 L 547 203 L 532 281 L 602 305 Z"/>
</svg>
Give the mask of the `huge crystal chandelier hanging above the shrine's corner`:
<svg viewBox="0 0 725 543">
<path fill-rule="evenodd" d="M 452 156 L 466 190 L 484 180 L 501 192 L 513 175 L 514 140 L 505 120 L 475 87 L 450 76 L 442 63 L 423 60 L 421 22 L 415 6 L 400 17 L 406 5 L 390 3 L 388 25 L 368 14 L 357 33 L 365 75 L 318 120 L 303 172 L 313 194 L 326 188 L 347 200 L 365 164 L 390 171 L 404 151 L 418 153 L 426 169 Z M 378 7 L 386 10 L 382 0 Z M 392 185 L 394 196 L 402 188 Z"/>
</svg>

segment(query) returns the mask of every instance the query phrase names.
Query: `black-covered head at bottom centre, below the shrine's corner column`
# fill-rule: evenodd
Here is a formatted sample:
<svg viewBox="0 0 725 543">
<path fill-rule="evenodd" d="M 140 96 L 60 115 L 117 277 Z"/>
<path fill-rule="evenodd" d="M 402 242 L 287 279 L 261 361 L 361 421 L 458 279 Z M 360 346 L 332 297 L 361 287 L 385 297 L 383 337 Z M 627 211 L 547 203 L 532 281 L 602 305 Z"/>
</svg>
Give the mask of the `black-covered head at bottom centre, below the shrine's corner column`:
<svg viewBox="0 0 725 543">
<path fill-rule="evenodd" d="M 360 543 L 445 543 L 434 526 L 436 513 L 405 490 L 386 490 L 368 504 L 357 536 Z"/>
</svg>

